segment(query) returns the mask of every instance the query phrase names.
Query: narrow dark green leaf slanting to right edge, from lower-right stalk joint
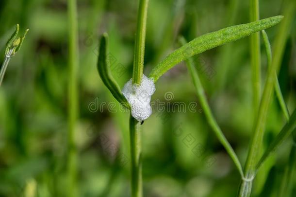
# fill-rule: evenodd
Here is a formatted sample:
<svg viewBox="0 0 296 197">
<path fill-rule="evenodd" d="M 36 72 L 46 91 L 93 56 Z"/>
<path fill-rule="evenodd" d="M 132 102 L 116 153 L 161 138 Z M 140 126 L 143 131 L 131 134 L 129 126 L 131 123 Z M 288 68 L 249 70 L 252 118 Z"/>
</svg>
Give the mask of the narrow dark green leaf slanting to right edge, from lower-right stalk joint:
<svg viewBox="0 0 296 197">
<path fill-rule="evenodd" d="M 284 127 L 281 129 L 280 133 L 277 135 L 273 143 L 271 143 L 268 148 L 265 150 L 263 156 L 259 160 L 259 162 L 256 165 L 256 172 L 260 169 L 263 162 L 271 155 L 273 151 L 275 151 L 281 143 L 284 142 L 293 132 L 293 130 L 296 128 L 296 109 L 292 113 L 290 120 L 284 125 Z"/>
</svg>

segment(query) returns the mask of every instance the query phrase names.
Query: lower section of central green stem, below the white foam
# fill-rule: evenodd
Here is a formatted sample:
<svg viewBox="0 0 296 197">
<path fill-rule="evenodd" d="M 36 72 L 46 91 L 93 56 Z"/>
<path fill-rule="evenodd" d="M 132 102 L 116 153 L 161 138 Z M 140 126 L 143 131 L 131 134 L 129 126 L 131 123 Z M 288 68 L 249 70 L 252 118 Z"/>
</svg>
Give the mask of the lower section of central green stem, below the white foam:
<svg viewBox="0 0 296 197">
<path fill-rule="evenodd" d="M 130 143 L 132 160 L 132 197 L 142 197 L 142 158 L 140 123 L 130 117 Z"/>
</svg>

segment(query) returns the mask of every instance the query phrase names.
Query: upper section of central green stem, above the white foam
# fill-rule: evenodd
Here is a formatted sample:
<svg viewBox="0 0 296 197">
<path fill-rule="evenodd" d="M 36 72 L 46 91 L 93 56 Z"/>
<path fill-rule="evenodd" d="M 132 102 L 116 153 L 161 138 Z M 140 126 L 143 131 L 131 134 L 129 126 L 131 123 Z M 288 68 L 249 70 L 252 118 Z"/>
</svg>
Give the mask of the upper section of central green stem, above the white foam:
<svg viewBox="0 0 296 197">
<path fill-rule="evenodd" d="M 132 84 L 141 84 L 144 70 L 144 54 L 146 39 L 146 23 L 149 0 L 140 0 L 138 10 L 137 32 L 134 47 L 134 60 L 132 69 Z"/>
</svg>

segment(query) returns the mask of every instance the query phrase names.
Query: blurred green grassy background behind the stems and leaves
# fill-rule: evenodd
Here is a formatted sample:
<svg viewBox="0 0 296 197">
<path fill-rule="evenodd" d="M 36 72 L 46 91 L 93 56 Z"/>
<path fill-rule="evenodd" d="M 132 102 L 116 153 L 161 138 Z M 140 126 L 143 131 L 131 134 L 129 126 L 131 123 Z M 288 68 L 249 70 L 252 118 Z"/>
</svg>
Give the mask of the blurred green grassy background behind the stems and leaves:
<svg viewBox="0 0 296 197">
<path fill-rule="evenodd" d="M 260 0 L 260 17 L 280 15 L 287 0 Z M 132 77 L 138 0 L 78 0 L 79 20 L 79 153 L 81 197 L 130 196 L 129 113 L 104 87 L 97 72 L 99 35 L 108 32 L 110 54 L 121 70 L 123 85 Z M 150 0 L 145 71 L 179 47 L 176 39 L 248 22 L 246 0 Z M 0 0 L 0 62 L 4 46 L 19 23 L 30 31 L 11 59 L 0 87 L 0 196 L 65 197 L 67 136 L 67 4 L 66 0 Z M 271 44 L 278 26 L 267 30 Z M 200 72 L 214 116 L 244 164 L 252 133 L 249 39 L 200 54 Z M 266 73 L 262 43 L 262 72 Z M 290 111 L 296 106 L 296 19 L 281 65 L 280 86 Z M 168 98 L 168 96 L 171 96 Z M 198 105 L 195 88 L 181 64 L 156 84 L 152 101 L 174 102 L 196 111 L 154 112 L 143 124 L 145 197 L 234 197 L 240 175 L 217 141 Z M 115 105 L 116 104 L 116 105 Z M 112 105 L 112 106 L 111 106 Z M 114 107 L 115 105 L 115 107 Z M 268 112 L 264 145 L 285 123 L 274 98 Z M 277 187 L 292 139 L 261 169 L 254 196 L 277 197 Z M 264 187 L 266 177 L 267 187 Z M 296 194 L 296 179 L 293 179 Z"/>
</svg>

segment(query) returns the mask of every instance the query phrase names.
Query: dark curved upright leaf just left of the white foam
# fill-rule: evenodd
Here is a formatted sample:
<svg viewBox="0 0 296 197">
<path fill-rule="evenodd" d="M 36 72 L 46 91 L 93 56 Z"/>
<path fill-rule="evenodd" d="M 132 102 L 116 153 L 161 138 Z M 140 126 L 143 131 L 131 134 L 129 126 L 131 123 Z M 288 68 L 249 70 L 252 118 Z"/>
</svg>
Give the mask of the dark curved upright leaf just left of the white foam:
<svg viewBox="0 0 296 197">
<path fill-rule="evenodd" d="M 108 35 L 102 35 L 99 46 L 98 71 L 105 86 L 110 90 L 115 99 L 123 106 L 130 108 L 128 101 L 122 94 L 118 84 L 112 76 L 108 59 Z"/>
</svg>

